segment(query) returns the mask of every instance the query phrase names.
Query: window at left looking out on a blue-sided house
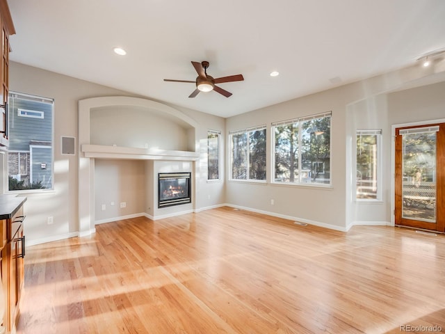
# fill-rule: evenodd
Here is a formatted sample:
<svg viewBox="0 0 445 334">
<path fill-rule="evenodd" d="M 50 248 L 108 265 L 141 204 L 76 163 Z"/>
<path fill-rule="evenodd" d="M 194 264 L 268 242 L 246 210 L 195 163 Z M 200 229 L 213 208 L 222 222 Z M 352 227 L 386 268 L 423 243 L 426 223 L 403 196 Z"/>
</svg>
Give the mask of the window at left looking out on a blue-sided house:
<svg viewBox="0 0 445 334">
<path fill-rule="evenodd" d="M 53 188 L 54 100 L 10 93 L 9 191 Z"/>
</svg>

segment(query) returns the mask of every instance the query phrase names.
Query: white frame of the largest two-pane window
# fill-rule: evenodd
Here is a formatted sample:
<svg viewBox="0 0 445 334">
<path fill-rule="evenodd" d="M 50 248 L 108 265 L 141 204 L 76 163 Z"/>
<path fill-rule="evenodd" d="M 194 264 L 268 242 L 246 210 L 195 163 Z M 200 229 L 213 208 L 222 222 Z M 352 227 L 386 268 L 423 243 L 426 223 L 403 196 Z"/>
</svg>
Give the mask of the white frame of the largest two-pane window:
<svg viewBox="0 0 445 334">
<path fill-rule="evenodd" d="M 303 139 L 303 123 L 307 120 L 314 120 L 317 118 L 326 118 L 329 117 L 330 118 L 330 122 L 329 122 L 329 129 L 330 129 L 330 142 L 329 142 L 329 173 L 330 173 L 330 177 L 329 177 L 329 182 L 328 183 L 322 183 L 322 182 L 303 182 L 303 168 L 302 168 L 302 153 L 303 153 L 303 143 L 302 143 L 302 139 Z M 293 181 L 293 182 L 282 182 L 282 181 L 277 181 L 275 180 L 275 143 L 276 143 L 276 138 L 275 138 L 275 128 L 276 127 L 282 127 L 282 126 L 286 126 L 286 125 L 292 125 L 292 124 L 297 124 L 298 126 L 298 138 L 297 138 L 297 145 L 298 145 L 298 150 L 297 150 L 297 159 L 298 159 L 298 177 L 297 180 Z M 332 188 L 332 111 L 327 111 L 324 113 L 317 113 L 314 115 L 309 115 L 309 116 L 302 116 L 299 118 L 292 118 L 290 120 L 282 120 L 279 122 L 272 122 L 271 123 L 271 131 L 270 131 L 273 136 L 271 136 L 271 140 L 270 140 L 270 144 L 271 144 L 271 161 L 272 164 L 270 165 L 270 169 L 271 169 L 271 175 L 270 175 L 270 183 L 274 184 L 274 185 L 280 185 L 280 186 L 311 186 L 311 187 L 323 187 L 323 188 Z M 326 170 L 326 161 L 313 161 L 314 164 L 323 164 L 323 173 Z"/>
</svg>

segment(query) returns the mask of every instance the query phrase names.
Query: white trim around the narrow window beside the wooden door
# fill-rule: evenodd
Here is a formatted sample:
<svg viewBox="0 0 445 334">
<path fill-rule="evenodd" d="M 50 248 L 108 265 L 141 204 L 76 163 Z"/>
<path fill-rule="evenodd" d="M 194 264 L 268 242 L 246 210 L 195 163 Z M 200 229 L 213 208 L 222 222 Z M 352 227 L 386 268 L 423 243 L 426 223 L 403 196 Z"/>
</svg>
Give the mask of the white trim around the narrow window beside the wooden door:
<svg viewBox="0 0 445 334">
<path fill-rule="evenodd" d="M 375 134 L 377 136 L 377 193 L 376 198 L 357 198 L 357 135 L 358 134 Z M 354 170 L 355 182 L 354 193 L 356 202 L 382 202 L 382 129 L 357 129 L 354 141 Z"/>
</svg>

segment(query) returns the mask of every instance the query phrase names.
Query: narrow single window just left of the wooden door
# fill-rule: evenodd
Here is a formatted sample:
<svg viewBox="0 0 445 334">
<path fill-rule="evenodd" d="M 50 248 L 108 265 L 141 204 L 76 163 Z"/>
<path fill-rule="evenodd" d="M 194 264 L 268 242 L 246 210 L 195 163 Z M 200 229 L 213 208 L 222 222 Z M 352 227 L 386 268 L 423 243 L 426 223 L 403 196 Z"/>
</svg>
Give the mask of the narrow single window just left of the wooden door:
<svg viewBox="0 0 445 334">
<path fill-rule="evenodd" d="M 359 200 L 380 200 L 380 136 L 382 130 L 357 130 L 357 173 L 356 198 Z"/>
</svg>

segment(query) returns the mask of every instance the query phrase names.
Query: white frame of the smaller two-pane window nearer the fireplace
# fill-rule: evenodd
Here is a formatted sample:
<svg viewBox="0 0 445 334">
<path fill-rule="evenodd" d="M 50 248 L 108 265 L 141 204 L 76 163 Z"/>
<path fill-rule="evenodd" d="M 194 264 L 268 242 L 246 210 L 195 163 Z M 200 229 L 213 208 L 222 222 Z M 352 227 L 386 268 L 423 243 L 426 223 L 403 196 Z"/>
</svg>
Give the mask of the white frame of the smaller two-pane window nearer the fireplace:
<svg viewBox="0 0 445 334">
<path fill-rule="evenodd" d="M 251 179 L 250 178 L 250 133 L 251 132 L 256 132 L 256 131 L 262 131 L 264 130 L 265 132 L 265 148 L 264 148 L 264 159 L 266 160 L 266 175 L 264 180 L 259 180 L 259 179 Z M 236 134 L 245 134 L 247 136 L 247 143 L 246 143 L 246 147 L 247 147 L 247 152 L 245 154 L 246 157 L 246 178 L 245 179 L 236 179 L 233 177 L 233 152 L 234 152 L 234 147 L 233 147 L 233 141 L 232 141 L 232 136 L 236 135 Z M 250 182 L 250 183 L 261 183 L 261 184 L 266 184 L 267 182 L 267 125 L 259 125 L 257 127 L 248 127 L 245 129 L 238 129 L 238 130 L 233 130 L 229 132 L 229 136 L 228 136 L 228 140 L 229 140 L 229 181 L 233 181 L 233 182 Z"/>
</svg>

